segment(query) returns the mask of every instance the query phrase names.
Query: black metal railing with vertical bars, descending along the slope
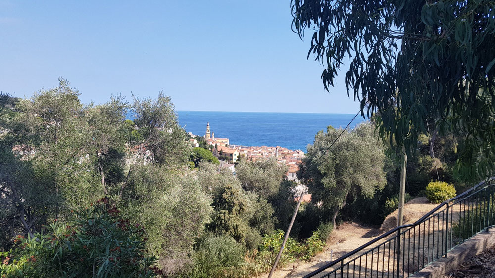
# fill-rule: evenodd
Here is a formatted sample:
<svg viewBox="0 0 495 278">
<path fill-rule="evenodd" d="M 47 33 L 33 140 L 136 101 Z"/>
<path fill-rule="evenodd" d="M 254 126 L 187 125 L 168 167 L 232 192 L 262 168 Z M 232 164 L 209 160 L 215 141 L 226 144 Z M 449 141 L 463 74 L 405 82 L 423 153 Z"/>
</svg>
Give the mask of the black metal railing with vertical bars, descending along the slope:
<svg viewBox="0 0 495 278">
<path fill-rule="evenodd" d="M 478 232 L 479 231 L 479 227 L 477 228 L 478 230 L 474 231 L 474 225 L 475 224 L 479 224 L 481 225 L 481 221 L 483 221 L 483 223 L 486 223 L 487 225 L 487 229 L 488 227 L 492 227 L 494 224 L 495 224 L 495 211 L 494 211 L 494 208 L 495 208 L 495 198 L 494 198 L 494 193 L 495 193 L 495 184 L 488 184 L 488 185 L 485 185 L 484 187 L 480 188 L 481 185 L 483 183 L 480 183 L 478 186 L 475 186 L 471 189 L 469 189 L 468 191 L 456 196 L 455 198 L 451 199 L 449 202 L 443 202 L 441 203 L 440 205 L 438 205 L 435 209 L 433 209 L 432 211 L 430 211 L 429 213 L 427 213 L 426 215 L 424 215 L 423 217 L 421 217 L 420 219 L 418 219 L 415 223 L 413 224 L 408 224 L 408 225 L 402 225 L 402 226 L 399 226 L 399 227 L 396 227 L 395 229 L 381 235 L 380 237 L 378 238 L 375 238 L 367 243 L 365 243 L 364 245 L 360 246 L 359 248 L 347 253 L 346 255 L 342 256 L 340 259 L 337 259 L 335 261 L 332 261 L 332 262 L 329 262 L 327 263 L 325 266 L 323 267 L 320 267 L 319 269 L 307 274 L 306 276 L 304 276 L 304 278 L 309 278 L 309 277 L 314 277 L 316 276 L 317 274 L 321 273 L 322 271 L 330 268 L 330 267 L 337 267 L 336 269 L 334 269 L 333 271 L 331 271 L 329 274 L 323 276 L 323 277 L 340 277 L 340 278 L 345 278 L 345 277 L 349 277 L 349 264 L 350 262 L 353 262 L 354 265 L 353 265 L 353 275 L 352 277 L 355 276 L 355 272 L 356 272 L 356 262 L 357 262 L 357 258 L 359 258 L 359 277 L 362 276 L 362 261 L 366 261 L 365 265 L 364 265 L 364 277 L 367 277 L 367 271 L 368 271 L 368 256 L 369 254 L 371 253 L 371 273 L 370 275 L 373 276 L 373 263 L 374 263 L 374 260 L 373 260 L 373 255 L 374 255 L 374 252 L 377 253 L 377 269 L 376 269 L 376 272 L 377 272 L 377 276 L 379 275 L 379 265 L 380 265 L 380 262 L 379 262 L 379 258 L 380 258 L 380 247 L 383 245 L 383 262 L 382 262 L 382 277 L 385 277 L 385 272 L 384 272 L 384 265 L 385 265 L 385 246 L 386 244 L 389 244 L 389 255 L 388 255 L 388 262 L 387 262 L 387 277 L 390 277 L 390 273 L 392 273 L 392 277 L 395 277 L 395 275 L 397 275 L 397 278 L 400 278 L 400 277 L 405 277 L 405 276 L 408 276 L 410 274 L 410 268 L 411 268 L 411 262 L 409 262 L 409 260 L 411 259 L 409 256 L 411 255 L 410 254 L 410 245 L 411 245 L 411 238 L 410 238 L 410 234 L 411 234 L 411 231 L 410 229 L 414 229 L 413 232 L 414 232 L 414 235 L 413 235 L 413 238 L 414 240 L 416 240 L 416 236 L 415 236 L 415 233 L 416 233 L 416 227 L 418 227 L 418 268 L 416 269 L 415 268 L 415 256 L 413 254 L 413 257 L 412 257 L 412 270 L 413 272 L 415 271 L 419 271 L 420 269 L 422 269 L 425 265 L 431 263 L 432 261 L 435 261 L 436 259 L 439 258 L 439 256 L 441 255 L 441 252 L 444 251 L 445 252 L 445 257 L 448 256 L 448 252 L 450 249 L 452 249 L 453 247 L 461 244 L 462 242 L 461 241 L 464 241 L 466 240 L 467 238 L 471 238 L 472 235 L 469 235 L 469 224 L 471 222 L 471 231 L 472 232 Z M 488 187 L 488 188 L 487 188 Z M 484 203 L 484 199 L 486 198 L 486 194 L 489 194 L 488 196 L 488 207 L 486 205 L 483 205 Z M 480 194 L 483 194 L 482 197 L 480 199 Z M 476 204 L 474 203 L 474 198 L 476 198 Z M 479 200 L 480 199 L 480 200 Z M 483 201 L 481 204 L 482 206 L 480 207 L 480 210 L 481 212 L 477 212 L 478 210 L 478 206 L 480 205 L 480 201 Z M 452 205 L 451 205 L 452 204 Z M 446 205 L 446 209 L 444 208 L 444 205 Z M 457 221 L 457 218 L 454 216 L 454 212 L 456 210 L 455 208 L 455 205 L 459 205 L 459 216 L 458 216 L 458 225 L 459 225 L 459 242 L 455 241 L 453 239 L 453 222 L 454 220 Z M 464 208 L 464 209 L 463 209 Z M 441 211 L 440 211 L 441 210 Z M 440 223 L 440 212 L 442 212 L 442 221 L 446 223 L 446 226 L 445 226 L 445 230 L 443 228 L 443 223 L 441 224 Z M 446 212 L 446 213 L 445 213 Z M 486 213 L 488 214 L 488 220 L 481 220 L 481 213 Z M 467 214 L 467 217 L 466 217 L 466 214 Z M 479 215 L 478 215 L 479 214 Z M 433 233 L 431 233 L 431 229 L 432 229 L 432 225 L 431 225 L 431 221 L 435 221 L 435 217 L 437 218 L 437 226 L 435 226 L 435 224 L 433 224 Z M 476 218 L 479 217 L 479 221 L 476 220 L 474 221 Z M 426 225 L 426 222 L 428 221 L 428 225 Z M 477 222 L 477 223 L 475 223 Z M 457 223 L 457 222 L 455 222 Z M 423 248 L 423 254 L 421 256 L 421 225 L 423 225 L 423 243 L 422 243 L 422 248 Z M 450 225 L 450 226 L 449 226 Z M 457 225 L 457 224 L 456 224 Z M 428 226 L 428 227 L 426 227 Z M 427 229 L 428 228 L 428 229 Z M 442 228 L 442 235 L 440 235 L 440 229 Z M 406 243 L 405 242 L 405 232 L 404 232 L 404 237 L 402 237 L 402 229 L 408 229 L 406 231 L 408 231 L 409 233 L 409 242 Z M 436 231 L 435 231 L 436 230 Z M 483 229 L 481 229 L 483 230 Z M 426 232 L 428 232 L 428 234 L 426 234 Z M 450 239 L 449 239 L 449 232 L 450 232 Z M 396 236 L 394 237 L 393 235 L 396 233 Z M 445 233 L 445 234 L 444 234 Z M 430 234 L 432 234 L 433 236 L 433 240 L 430 239 Z M 437 236 L 435 236 L 435 234 L 437 234 Z M 465 235 L 464 235 L 465 234 Z M 473 234 L 473 233 L 471 233 Z M 445 235 L 445 238 L 444 238 L 444 235 Z M 393 237 L 393 238 L 389 238 L 390 237 Z M 464 238 L 465 237 L 465 238 Z M 388 239 L 387 239 L 388 238 Z M 376 242 L 379 242 L 379 240 L 386 240 L 383 244 L 381 245 L 378 245 L 378 247 L 375 247 L 375 248 L 372 248 L 371 250 L 369 251 L 365 251 L 365 248 L 369 247 L 369 246 L 372 246 L 372 244 L 375 244 Z M 461 240 L 461 239 L 464 239 L 464 240 Z M 392 240 L 394 240 L 394 250 L 392 250 Z M 403 242 L 401 242 L 401 240 L 404 240 Z M 435 241 L 436 240 L 436 241 Z M 440 242 L 440 240 L 442 240 L 442 242 Z M 445 245 L 444 245 L 444 241 L 445 240 Z M 431 241 L 431 244 L 430 244 L 430 241 Z M 409 244 L 408 246 L 408 258 L 405 257 L 405 247 L 406 244 Z M 428 244 L 428 246 L 426 246 Z M 444 246 L 443 246 L 444 245 Z M 437 246 L 435 248 L 435 246 Z M 432 253 L 430 254 L 430 247 L 431 247 L 431 251 Z M 375 250 L 376 249 L 376 250 Z M 413 253 L 415 253 L 415 249 L 416 249 L 416 244 L 415 244 L 415 241 L 413 241 Z M 435 256 L 435 251 L 434 249 L 437 249 L 437 256 Z M 350 258 L 351 256 L 355 255 L 355 254 L 358 254 L 358 252 L 364 252 L 364 253 L 361 253 L 358 257 L 352 259 L 351 261 L 349 261 L 347 263 L 347 270 L 346 270 L 346 273 L 347 275 L 344 275 L 344 267 L 346 265 L 346 263 L 344 263 L 344 260 L 347 259 L 347 258 Z M 396 254 L 391 254 L 392 252 L 396 252 Z M 402 252 L 402 254 L 401 254 Z M 392 267 L 390 267 L 390 255 L 392 255 Z M 430 255 L 432 255 L 432 258 L 430 260 Z M 443 256 L 444 254 L 442 254 Z M 422 257 L 422 258 L 421 258 Z M 395 262 L 397 259 L 397 263 Z M 407 260 L 406 260 L 407 259 Z M 426 260 L 426 262 L 425 262 Z M 422 261 L 422 264 L 420 263 L 420 261 Z M 340 262 L 340 263 L 339 263 Z M 402 263 L 402 269 L 401 269 L 401 266 L 400 264 Z M 407 268 L 407 273 L 405 271 L 405 264 L 408 264 L 408 268 Z M 396 267 L 397 269 L 393 269 L 394 267 Z M 337 276 L 337 271 L 338 269 L 341 269 L 341 273 L 340 273 L 340 276 Z"/>
</svg>

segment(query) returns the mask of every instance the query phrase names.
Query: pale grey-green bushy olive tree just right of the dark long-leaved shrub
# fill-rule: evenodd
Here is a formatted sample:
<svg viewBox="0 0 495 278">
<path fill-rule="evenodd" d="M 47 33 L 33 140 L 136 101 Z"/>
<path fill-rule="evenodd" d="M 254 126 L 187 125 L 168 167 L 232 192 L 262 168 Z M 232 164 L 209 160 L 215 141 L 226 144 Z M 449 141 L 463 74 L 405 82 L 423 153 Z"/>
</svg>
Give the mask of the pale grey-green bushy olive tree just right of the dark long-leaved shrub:
<svg viewBox="0 0 495 278">
<path fill-rule="evenodd" d="M 168 274 L 187 263 L 212 213 L 211 198 L 197 179 L 174 172 L 160 164 L 135 165 L 122 193 L 112 193 L 122 215 L 146 227 L 147 250 Z"/>
</svg>

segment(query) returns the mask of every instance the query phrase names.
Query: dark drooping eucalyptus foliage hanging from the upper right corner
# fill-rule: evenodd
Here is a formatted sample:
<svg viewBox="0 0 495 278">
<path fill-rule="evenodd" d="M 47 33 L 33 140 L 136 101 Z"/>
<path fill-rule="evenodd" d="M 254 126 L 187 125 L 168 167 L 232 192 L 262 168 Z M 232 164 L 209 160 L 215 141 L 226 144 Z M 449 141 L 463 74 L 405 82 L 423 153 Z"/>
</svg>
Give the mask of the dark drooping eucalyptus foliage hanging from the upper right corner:
<svg viewBox="0 0 495 278">
<path fill-rule="evenodd" d="M 483 179 L 495 170 L 495 3 L 480 1 L 291 0 L 293 28 L 312 30 L 308 58 L 334 85 L 350 58 L 347 94 L 377 112 L 380 134 L 411 153 L 426 120 L 465 132 L 457 171 Z"/>
</svg>

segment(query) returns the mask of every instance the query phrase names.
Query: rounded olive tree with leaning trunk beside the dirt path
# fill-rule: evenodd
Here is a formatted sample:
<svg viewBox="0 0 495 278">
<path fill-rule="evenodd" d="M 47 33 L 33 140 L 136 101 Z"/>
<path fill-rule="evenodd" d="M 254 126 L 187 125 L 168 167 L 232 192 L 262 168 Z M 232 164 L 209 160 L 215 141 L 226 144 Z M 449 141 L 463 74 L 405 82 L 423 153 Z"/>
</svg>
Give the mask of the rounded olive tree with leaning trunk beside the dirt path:
<svg viewBox="0 0 495 278">
<path fill-rule="evenodd" d="M 322 209 L 330 212 L 334 227 L 351 195 L 371 198 L 385 186 L 385 155 L 373 130 L 369 122 L 362 123 L 352 132 L 344 131 L 335 141 L 342 130 L 329 126 L 326 133 L 316 134 L 302 159 L 297 177 L 308 186 L 311 202 L 321 202 Z M 328 149 L 334 141 L 335 145 Z"/>
</svg>

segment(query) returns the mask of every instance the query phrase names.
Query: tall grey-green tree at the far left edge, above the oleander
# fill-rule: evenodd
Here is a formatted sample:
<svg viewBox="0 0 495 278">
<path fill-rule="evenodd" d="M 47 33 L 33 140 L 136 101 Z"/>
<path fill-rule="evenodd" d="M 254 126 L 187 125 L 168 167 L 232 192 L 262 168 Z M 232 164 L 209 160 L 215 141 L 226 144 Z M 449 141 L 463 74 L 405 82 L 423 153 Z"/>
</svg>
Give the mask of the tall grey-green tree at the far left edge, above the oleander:
<svg viewBox="0 0 495 278">
<path fill-rule="evenodd" d="M 50 217 L 99 193 L 90 165 L 81 161 L 89 136 L 78 96 L 59 79 L 58 87 L 30 99 L 3 97 L 0 194 L 10 208 L 2 219 L 10 219 L 4 222 L 10 236 L 39 231 Z"/>
</svg>

